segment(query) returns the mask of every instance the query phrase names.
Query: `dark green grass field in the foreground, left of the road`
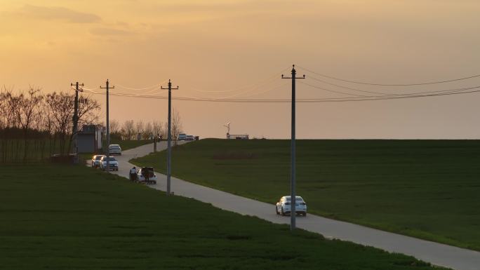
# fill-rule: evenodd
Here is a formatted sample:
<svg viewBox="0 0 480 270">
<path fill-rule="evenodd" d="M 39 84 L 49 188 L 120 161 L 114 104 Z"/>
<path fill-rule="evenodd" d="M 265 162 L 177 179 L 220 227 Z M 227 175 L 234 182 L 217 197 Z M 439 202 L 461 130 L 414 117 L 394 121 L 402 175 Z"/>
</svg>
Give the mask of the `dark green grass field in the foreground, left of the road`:
<svg viewBox="0 0 480 270">
<path fill-rule="evenodd" d="M 84 166 L 0 170 L 0 269 L 436 269 Z"/>
</svg>

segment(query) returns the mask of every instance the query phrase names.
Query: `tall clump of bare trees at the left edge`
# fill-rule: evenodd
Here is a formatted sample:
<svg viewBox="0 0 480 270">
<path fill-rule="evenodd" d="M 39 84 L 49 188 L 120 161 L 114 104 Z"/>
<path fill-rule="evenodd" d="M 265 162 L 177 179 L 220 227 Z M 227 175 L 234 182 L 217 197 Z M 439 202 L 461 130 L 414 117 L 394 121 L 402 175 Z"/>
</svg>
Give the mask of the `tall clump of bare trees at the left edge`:
<svg viewBox="0 0 480 270">
<path fill-rule="evenodd" d="M 0 90 L 0 161 L 29 161 L 72 150 L 75 93 Z M 79 97 L 79 126 L 98 123 L 100 104 Z"/>
</svg>

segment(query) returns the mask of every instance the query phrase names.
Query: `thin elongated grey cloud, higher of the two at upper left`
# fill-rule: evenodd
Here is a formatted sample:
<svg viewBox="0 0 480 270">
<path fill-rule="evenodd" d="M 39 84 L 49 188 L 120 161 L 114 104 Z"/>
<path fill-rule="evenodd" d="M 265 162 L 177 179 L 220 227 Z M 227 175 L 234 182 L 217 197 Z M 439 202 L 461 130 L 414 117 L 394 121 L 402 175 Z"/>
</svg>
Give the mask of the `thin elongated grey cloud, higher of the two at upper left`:
<svg viewBox="0 0 480 270">
<path fill-rule="evenodd" d="M 65 20 L 72 23 L 100 22 L 102 18 L 93 13 L 74 11 L 63 7 L 25 5 L 18 13 L 40 20 Z"/>
</svg>

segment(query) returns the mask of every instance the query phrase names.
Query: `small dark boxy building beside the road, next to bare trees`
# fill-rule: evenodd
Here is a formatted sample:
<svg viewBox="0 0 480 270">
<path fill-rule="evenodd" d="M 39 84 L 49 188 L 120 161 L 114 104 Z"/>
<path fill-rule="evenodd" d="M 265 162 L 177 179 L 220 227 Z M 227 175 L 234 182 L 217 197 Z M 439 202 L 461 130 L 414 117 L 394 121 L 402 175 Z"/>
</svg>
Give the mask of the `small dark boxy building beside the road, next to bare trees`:
<svg viewBox="0 0 480 270">
<path fill-rule="evenodd" d="M 85 125 L 77 135 L 78 153 L 98 153 L 102 149 L 104 127 Z"/>
</svg>

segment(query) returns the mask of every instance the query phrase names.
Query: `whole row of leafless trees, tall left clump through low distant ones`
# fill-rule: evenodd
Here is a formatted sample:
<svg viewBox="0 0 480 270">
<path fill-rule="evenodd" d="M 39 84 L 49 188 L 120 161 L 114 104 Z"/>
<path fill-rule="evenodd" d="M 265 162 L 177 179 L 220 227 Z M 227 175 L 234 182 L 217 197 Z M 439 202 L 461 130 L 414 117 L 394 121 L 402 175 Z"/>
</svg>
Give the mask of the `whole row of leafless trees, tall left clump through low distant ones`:
<svg viewBox="0 0 480 270">
<path fill-rule="evenodd" d="M 66 91 L 44 93 L 29 87 L 14 92 L 0 90 L 0 162 L 38 161 L 52 154 L 66 155 L 73 148 L 73 116 L 75 93 Z M 79 95 L 78 126 L 100 125 L 100 104 L 92 97 Z M 166 140 L 167 121 L 133 121 L 109 123 L 112 140 L 143 140 L 156 135 Z M 182 133 L 182 121 L 173 109 L 172 139 Z"/>
</svg>

